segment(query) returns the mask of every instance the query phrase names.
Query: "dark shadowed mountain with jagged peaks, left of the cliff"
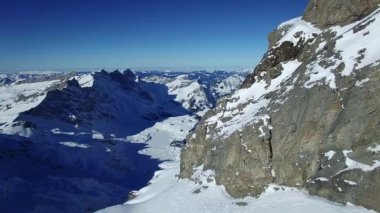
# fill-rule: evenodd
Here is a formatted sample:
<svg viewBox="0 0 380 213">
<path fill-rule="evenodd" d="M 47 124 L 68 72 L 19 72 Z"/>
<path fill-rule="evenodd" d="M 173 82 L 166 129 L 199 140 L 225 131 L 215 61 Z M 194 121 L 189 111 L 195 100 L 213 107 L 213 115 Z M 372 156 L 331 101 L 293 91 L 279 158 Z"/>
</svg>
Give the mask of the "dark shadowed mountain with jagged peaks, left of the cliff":
<svg viewBox="0 0 380 213">
<path fill-rule="evenodd" d="M 154 92 L 144 90 L 144 83 L 138 83 L 131 71 L 95 72 L 92 78 L 91 87 L 87 87 L 88 82 L 81 87 L 72 79 L 62 90 L 49 91 L 38 106 L 20 114 L 16 121 L 39 123 L 39 129 L 50 130 L 54 120 L 54 125 L 64 131 L 129 135 L 157 120 L 187 113 L 163 93 L 155 98 L 160 87 L 166 89 L 163 85 L 156 84 Z"/>
</svg>

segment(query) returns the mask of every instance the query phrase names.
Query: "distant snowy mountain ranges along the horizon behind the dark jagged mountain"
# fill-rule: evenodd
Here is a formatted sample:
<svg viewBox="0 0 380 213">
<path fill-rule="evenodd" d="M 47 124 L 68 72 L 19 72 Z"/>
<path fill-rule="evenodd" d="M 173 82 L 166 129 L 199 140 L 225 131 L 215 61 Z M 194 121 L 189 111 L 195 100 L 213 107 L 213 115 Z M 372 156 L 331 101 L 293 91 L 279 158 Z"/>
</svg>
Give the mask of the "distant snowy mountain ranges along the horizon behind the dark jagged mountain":
<svg viewBox="0 0 380 213">
<path fill-rule="evenodd" d="M 133 73 L 126 70 L 107 72 L 104 70 L 92 73 L 35 73 L 27 74 L 1 74 L 0 76 L 0 128 L 1 132 L 14 133 L 8 129 L 13 120 L 22 112 L 38 106 L 46 97 L 48 91 L 66 88 L 66 82 L 76 80 L 81 88 L 94 86 L 94 76 L 107 73 L 106 76 L 141 75 L 142 78 L 153 83 L 169 86 L 169 95 L 175 96 L 175 101 L 182 103 L 183 107 L 192 110 L 198 115 L 203 115 L 215 103 L 215 99 L 237 89 L 245 73 L 214 71 L 211 73 L 165 73 L 146 72 Z M 119 74 L 117 74 L 119 73 Z M 145 76 L 145 77 L 144 77 Z M 150 77 L 149 77 L 150 76 Z M 120 77 L 120 76 L 119 76 Z M 148 79 L 150 78 L 150 79 Z M 224 80 L 226 78 L 226 80 Z M 138 84 L 139 79 L 135 79 Z M 124 82 L 126 83 L 126 82 Z M 124 84 L 123 83 L 123 84 Z M 145 84 L 142 82 L 141 84 Z M 152 88 L 145 88 L 149 93 Z M 7 125 L 5 125 L 7 124 Z M 5 130 L 8 129 L 8 130 Z"/>
</svg>

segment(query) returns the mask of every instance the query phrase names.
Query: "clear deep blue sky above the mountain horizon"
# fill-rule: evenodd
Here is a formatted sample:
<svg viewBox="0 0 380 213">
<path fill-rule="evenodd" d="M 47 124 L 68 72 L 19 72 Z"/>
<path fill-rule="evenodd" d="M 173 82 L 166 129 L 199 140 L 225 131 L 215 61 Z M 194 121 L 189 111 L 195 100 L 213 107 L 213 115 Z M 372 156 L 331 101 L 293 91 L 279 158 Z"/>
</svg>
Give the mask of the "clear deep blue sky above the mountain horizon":
<svg viewBox="0 0 380 213">
<path fill-rule="evenodd" d="M 0 71 L 251 67 L 308 0 L 0 0 Z"/>
</svg>

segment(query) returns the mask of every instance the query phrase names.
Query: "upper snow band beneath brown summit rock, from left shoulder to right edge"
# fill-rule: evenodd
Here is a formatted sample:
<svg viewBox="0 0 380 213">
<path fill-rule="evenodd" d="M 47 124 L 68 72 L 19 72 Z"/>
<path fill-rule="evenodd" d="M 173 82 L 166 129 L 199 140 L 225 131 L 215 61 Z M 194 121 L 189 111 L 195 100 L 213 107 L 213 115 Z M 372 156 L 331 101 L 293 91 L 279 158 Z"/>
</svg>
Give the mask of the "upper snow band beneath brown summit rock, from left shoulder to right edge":
<svg viewBox="0 0 380 213">
<path fill-rule="evenodd" d="M 285 41 L 290 41 L 297 45 L 301 39 L 308 40 L 314 38 L 315 35 L 323 33 L 334 33 L 333 40 L 336 41 L 334 48 L 335 55 L 326 59 L 319 57 L 318 60 L 308 65 L 308 73 L 310 79 L 305 83 L 306 88 L 312 88 L 318 83 L 324 83 L 332 89 L 337 89 L 335 83 L 335 70 L 342 63 L 345 64 L 341 76 L 349 76 L 355 70 L 360 70 L 369 65 L 380 63 L 380 50 L 377 48 L 378 38 L 380 36 L 380 9 L 375 10 L 367 17 L 358 20 L 349 25 L 340 27 L 333 26 L 324 30 L 315 27 L 301 19 L 301 17 L 291 19 L 279 25 L 278 29 L 284 28 L 283 37 L 277 42 L 278 47 Z M 316 52 L 323 52 L 326 42 L 321 42 Z M 275 48 L 274 47 L 274 48 Z M 332 66 L 322 67 L 321 64 L 330 63 Z M 360 84 L 359 84 L 360 85 Z"/>
</svg>

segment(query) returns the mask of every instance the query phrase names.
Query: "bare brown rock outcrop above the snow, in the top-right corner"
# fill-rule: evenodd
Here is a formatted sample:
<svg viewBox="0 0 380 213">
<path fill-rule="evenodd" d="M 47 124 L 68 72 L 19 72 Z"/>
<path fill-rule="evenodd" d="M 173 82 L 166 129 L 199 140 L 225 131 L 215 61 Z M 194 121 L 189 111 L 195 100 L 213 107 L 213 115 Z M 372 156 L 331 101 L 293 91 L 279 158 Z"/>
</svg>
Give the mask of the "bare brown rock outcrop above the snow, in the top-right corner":
<svg viewBox="0 0 380 213">
<path fill-rule="evenodd" d="M 322 28 L 343 26 L 369 15 L 379 3 L 379 0 L 313 0 L 303 19 Z"/>
</svg>

